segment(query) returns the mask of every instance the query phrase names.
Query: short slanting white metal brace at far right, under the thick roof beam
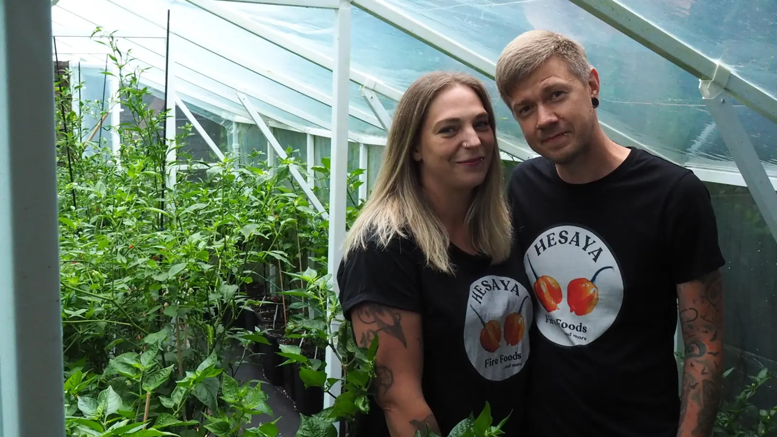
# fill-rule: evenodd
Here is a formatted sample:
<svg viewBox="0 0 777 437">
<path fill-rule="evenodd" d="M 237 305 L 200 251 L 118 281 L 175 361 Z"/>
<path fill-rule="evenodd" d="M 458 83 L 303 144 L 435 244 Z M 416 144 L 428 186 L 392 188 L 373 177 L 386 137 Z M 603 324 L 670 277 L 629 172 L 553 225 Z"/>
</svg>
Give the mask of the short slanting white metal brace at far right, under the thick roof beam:
<svg viewBox="0 0 777 437">
<path fill-rule="evenodd" d="M 702 93 L 702 101 L 720 131 L 720 136 L 731 151 L 734 163 L 737 163 L 747 183 L 755 205 L 758 206 L 764 222 L 772 232 L 772 237 L 777 240 L 777 192 L 726 93 L 726 85 L 732 77 L 727 68 L 718 65 L 713 73 L 713 79 L 699 81 L 699 91 Z"/>
</svg>

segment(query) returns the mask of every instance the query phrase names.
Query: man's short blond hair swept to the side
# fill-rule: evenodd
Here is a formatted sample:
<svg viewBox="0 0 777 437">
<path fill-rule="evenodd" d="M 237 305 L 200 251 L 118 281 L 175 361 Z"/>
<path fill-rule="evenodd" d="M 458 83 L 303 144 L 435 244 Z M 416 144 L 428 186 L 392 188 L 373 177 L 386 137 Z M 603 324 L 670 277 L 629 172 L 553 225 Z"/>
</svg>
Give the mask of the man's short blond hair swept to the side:
<svg viewBox="0 0 777 437">
<path fill-rule="evenodd" d="M 497 61 L 497 90 L 508 107 L 515 87 L 553 56 L 565 61 L 581 81 L 591 78 L 591 63 L 582 45 L 560 33 L 529 30 L 507 44 Z"/>
</svg>

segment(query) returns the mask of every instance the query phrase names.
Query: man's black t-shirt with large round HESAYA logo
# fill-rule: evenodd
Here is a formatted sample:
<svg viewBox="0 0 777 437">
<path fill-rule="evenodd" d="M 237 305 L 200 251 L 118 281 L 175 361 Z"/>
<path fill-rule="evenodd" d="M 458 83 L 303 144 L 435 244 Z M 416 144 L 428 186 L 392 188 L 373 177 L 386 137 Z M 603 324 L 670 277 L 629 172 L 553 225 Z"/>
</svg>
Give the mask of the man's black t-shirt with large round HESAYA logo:
<svg viewBox="0 0 777 437">
<path fill-rule="evenodd" d="M 724 264 L 704 184 L 632 149 L 589 184 L 529 159 L 508 192 L 535 296 L 530 435 L 674 437 L 675 285 Z"/>
</svg>

